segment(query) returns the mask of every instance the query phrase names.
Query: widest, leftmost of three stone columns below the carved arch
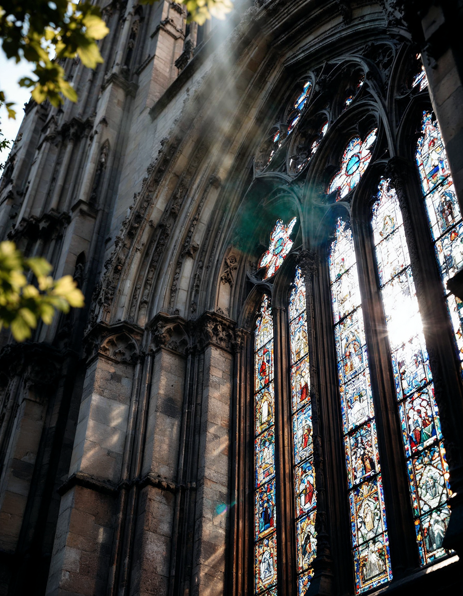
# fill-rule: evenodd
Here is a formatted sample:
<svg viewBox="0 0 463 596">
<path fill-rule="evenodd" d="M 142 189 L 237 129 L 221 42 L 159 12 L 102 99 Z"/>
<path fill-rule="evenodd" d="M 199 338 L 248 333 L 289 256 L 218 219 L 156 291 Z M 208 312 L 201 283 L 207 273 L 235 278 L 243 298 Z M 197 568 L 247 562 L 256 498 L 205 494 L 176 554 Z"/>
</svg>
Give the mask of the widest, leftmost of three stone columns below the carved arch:
<svg viewBox="0 0 463 596">
<path fill-rule="evenodd" d="M 127 324 L 106 325 L 101 333 L 106 339 L 95 340 L 97 351 L 87 367 L 69 476 L 60 488 L 48 595 L 93 596 L 107 591 L 118 485 L 130 445 L 130 406 L 136 399 L 132 386 L 140 330 Z"/>
</svg>

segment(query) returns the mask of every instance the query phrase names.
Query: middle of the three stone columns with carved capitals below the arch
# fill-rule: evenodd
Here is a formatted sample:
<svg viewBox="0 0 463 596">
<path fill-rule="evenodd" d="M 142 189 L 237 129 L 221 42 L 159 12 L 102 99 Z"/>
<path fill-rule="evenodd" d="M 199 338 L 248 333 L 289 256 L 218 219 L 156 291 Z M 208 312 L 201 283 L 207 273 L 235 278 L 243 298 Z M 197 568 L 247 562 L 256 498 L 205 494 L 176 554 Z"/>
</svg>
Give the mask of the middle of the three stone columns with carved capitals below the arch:
<svg viewBox="0 0 463 596">
<path fill-rule="evenodd" d="M 187 336 L 180 317 L 157 315 L 152 331 L 154 364 L 149 390 L 134 550 L 128 594 L 166 595 L 179 492 Z M 140 432 L 140 431 L 139 431 Z"/>
</svg>

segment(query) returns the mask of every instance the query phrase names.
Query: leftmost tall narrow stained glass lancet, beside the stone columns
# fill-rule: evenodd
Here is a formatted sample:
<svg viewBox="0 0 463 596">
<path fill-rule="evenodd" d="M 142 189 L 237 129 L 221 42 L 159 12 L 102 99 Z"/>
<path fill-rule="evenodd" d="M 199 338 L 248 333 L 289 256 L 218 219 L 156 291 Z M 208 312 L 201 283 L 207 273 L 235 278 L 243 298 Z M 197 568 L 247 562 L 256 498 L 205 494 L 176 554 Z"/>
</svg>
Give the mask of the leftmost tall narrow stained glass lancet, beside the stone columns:
<svg viewBox="0 0 463 596">
<path fill-rule="evenodd" d="M 273 321 L 264 294 L 254 331 L 255 594 L 277 594 Z"/>
</svg>

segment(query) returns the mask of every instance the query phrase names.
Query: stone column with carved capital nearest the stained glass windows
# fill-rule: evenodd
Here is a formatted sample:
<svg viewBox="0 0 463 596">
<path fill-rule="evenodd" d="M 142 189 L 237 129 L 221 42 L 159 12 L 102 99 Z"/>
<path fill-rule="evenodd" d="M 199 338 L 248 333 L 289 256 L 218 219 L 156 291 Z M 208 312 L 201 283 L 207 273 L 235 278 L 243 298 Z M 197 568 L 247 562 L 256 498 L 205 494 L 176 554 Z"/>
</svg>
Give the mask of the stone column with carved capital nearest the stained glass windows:
<svg viewBox="0 0 463 596">
<path fill-rule="evenodd" d="M 230 407 L 233 322 L 217 313 L 198 321 L 204 346 L 201 422 L 193 545 L 193 596 L 226 592 L 227 522 L 230 509 Z"/>
</svg>

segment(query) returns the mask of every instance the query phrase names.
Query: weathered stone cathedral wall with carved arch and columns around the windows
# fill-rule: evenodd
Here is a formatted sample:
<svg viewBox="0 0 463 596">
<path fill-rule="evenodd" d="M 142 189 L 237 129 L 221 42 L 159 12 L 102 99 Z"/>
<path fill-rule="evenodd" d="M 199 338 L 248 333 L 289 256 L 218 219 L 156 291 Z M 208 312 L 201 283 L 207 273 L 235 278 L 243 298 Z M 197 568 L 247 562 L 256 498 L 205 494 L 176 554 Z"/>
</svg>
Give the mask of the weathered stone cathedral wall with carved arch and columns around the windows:
<svg viewBox="0 0 463 596">
<path fill-rule="evenodd" d="M 58 381 L 46 377 L 42 358 L 35 375 L 43 378 L 32 386 L 26 367 L 6 358 L 11 346 L 0 355 L 9 388 L 0 402 L 1 596 L 31 592 L 20 581 L 30 560 L 43 567 L 33 586 L 40 595 L 252 589 L 253 530 L 243 511 L 254 483 L 244 456 L 240 480 L 231 461 L 232 445 L 251 461 L 249 403 L 238 406 L 234 395 L 248 395 L 251 356 L 240 360 L 239 389 L 234 319 L 249 332 L 250 284 L 268 290 L 253 265 L 267 241 L 258 229 L 264 198 L 276 187 L 280 198 L 306 193 L 283 162 L 264 181 L 254 157 L 274 118 L 284 126 L 280 107 L 309 69 L 318 76 L 327 61 L 363 52 L 362 64 L 376 69 L 368 85 L 386 105 L 386 67 L 374 66 L 371 48 L 391 42 L 411 52 L 414 42 L 461 200 L 462 57 L 456 42 L 433 37 L 448 6 L 442 17 L 425 4 L 430 13 L 417 21 L 393 2 L 275 0 L 247 12 L 242 2 L 195 52 L 184 51 L 183 5 L 108 5 L 105 64 L 95 72 L 67 65 L 79 102 L 27 106 L 0 184 L 0 236 L 48 258 L 56 276 L 74 275 L 87 308 L 33 336 L 33 346 L 60 359 Z M 340 101 L 324 76 L 317 93 Z M 311 188 L 334 167 L 323 155 L 326 171 Z M 259 193 L 265 209 L 246 212 Z M 245 238 L 236 224 L 243 212 L 252 230 Z M 307 238 L 314 213 L 304 214 Z M 238 485 L 239 507 L 230 497 Z"/>
</svg>

